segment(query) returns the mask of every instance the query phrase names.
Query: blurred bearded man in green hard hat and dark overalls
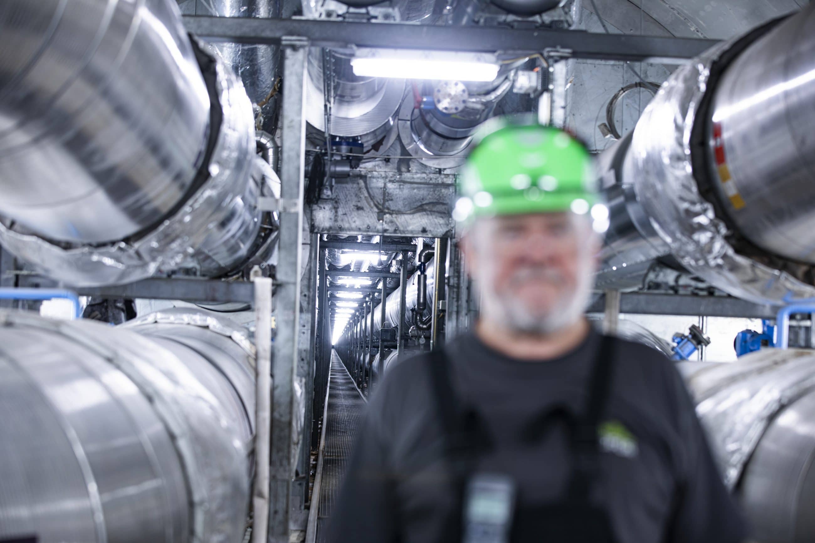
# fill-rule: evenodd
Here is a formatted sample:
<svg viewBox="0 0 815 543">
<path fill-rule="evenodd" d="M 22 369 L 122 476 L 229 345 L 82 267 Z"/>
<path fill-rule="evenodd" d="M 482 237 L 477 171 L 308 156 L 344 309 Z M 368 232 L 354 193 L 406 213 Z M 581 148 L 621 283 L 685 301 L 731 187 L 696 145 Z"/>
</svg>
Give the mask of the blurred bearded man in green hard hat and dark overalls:
<svg viewBox="0 0 815 543">
<path fill-rule="evenodd" d="M 672 362 L 583 316 L 608 226 L 585 147 L 504 125 L 460 191 L 478 323 L 387 375 L 328 541 L 743 541 Z"/>
</svg>

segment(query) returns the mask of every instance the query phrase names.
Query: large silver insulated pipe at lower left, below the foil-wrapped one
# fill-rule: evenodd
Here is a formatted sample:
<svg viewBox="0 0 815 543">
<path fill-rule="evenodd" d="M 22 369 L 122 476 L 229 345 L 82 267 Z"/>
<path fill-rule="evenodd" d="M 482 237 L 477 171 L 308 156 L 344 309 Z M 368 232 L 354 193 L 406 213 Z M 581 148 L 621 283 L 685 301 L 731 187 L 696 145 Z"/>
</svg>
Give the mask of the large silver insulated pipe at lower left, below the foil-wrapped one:
<svg viewBox="0 0 815 543">
<path fill-rule="evenodd" d="M 246 332 L 202 312 L 125 326 L 0 313 L 0 540 L 242 541 Z"/>
</svg>

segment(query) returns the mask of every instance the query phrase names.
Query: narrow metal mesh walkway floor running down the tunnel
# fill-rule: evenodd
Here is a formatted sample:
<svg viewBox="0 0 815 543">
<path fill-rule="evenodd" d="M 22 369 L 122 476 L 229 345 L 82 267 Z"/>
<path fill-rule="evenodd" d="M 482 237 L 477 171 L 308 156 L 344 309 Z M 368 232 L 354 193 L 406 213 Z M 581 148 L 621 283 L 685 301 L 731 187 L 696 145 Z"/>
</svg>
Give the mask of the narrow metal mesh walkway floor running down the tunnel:
<svg viewBox="0 0 815 543">
<path fill-rule="evenodd" d="M 325 444 L 323 449 L 323 475 L 319 491 L 317 516 L 318 543 L 325 541 L 325 525 L 337 502 L 342 475 L 354 446 L 359 417 L 365 401 L 354 386 L 350 375 L 342 366 L 337 353 L 331 353 L 328 408 L 325 414 Z"/>
</svg>

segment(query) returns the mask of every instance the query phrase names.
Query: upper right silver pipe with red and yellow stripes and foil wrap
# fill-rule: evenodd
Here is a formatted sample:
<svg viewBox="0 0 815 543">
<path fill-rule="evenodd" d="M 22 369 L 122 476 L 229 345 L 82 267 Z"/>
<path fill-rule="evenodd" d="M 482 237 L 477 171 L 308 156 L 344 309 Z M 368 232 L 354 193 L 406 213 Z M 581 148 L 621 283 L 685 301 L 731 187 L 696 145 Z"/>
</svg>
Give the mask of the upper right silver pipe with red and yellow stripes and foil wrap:
<svg viewBox="0 0 815 543">
<path fill-rule="evenodd" d="M 815 296 L 815 6 L 716 46 L 666 81 L 601 158 L 601 286 L 669 257 L 733 296 Z"/>
</svg>

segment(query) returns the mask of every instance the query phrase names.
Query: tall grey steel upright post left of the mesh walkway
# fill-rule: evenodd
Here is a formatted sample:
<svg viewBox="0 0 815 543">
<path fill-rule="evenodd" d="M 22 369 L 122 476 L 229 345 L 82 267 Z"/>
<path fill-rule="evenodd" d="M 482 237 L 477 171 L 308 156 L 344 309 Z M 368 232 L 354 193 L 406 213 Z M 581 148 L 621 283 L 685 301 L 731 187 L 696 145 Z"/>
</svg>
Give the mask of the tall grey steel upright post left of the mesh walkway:
<svg viewBox="0 0 815 543">
<path fill-rule="evenodd" d="M 289 516 L 294 475 L 294 379 L 297 369 L 300 326 L 300 274 L 303 225 L 303 170 L 306 151 L 306 58 L 308 40 L 282 40 L 283 145 L 280 198 L 296 203 L 280 212 L 280 258 L 276 269 L 277 291 L 275 358 L 273 363 L 271 425 L 271 502 L 269 541 L 289 543 Z"/>
</svg>

